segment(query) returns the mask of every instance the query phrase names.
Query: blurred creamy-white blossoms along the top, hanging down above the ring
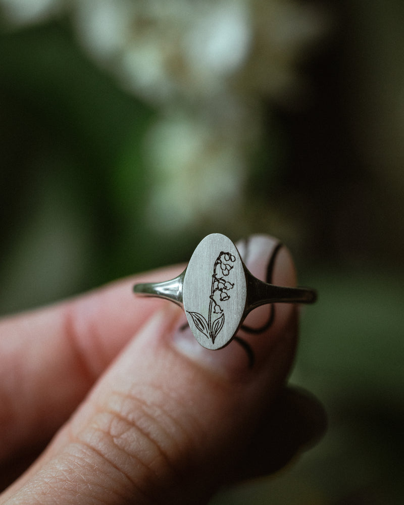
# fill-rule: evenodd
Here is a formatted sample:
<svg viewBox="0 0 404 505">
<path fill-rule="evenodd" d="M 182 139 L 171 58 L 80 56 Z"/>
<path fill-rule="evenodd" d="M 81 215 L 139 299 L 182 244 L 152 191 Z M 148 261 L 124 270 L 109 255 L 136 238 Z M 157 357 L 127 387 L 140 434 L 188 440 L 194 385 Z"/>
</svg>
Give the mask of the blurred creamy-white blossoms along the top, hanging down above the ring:
<svg viewBox="0 0 404 505">
<path fill-rule="evenodd" d="M 21 12 L 26 5 L 27 19 L 61 2 L 14 0 Z M 296 63 L 329 28 L 324 11 L 293 0 L 69 6 L 87 53 L 164 118 L 146 142 L 151 222 L 171 231 L 229 219 L 243 196 L 251 144 L 263 129 L 260 103 L 296 99 L 304 84 Z"/>
</svg>

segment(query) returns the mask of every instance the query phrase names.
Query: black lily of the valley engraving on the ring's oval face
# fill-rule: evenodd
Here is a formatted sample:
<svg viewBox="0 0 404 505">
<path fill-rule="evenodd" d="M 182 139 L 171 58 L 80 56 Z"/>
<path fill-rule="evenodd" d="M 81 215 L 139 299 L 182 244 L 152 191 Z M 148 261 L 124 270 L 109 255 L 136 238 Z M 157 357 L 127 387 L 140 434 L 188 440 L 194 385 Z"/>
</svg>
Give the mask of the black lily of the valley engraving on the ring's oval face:
<svg viewBox="0 0 404 505">
<path fill-rule="evenodd" d="M 230 299 L 228 291 L 233 289 L 234 283 L 226 280 L 226 277 L 233 268 L 232 263 L 235 261 L 235 257 L 230 254 L 230 252 L 222 251 L 216 258 L 213 267 L 211 294 L 209 296 L 208 321 L 198 312 L 187 311 L 192 317 L 192 321 L 196 328 L 206 337 L 210 338 L 212 343 L 215 343 L 215 339 L 224 325 L 225 318 L 220 303 Z"/>
</svg>

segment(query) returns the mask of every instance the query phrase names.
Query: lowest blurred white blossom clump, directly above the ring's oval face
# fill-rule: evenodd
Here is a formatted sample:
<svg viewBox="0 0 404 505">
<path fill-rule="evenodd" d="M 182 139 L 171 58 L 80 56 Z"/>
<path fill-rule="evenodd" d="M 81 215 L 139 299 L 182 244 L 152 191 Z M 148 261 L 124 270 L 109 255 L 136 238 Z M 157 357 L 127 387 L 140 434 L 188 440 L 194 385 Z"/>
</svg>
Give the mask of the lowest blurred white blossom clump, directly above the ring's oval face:
<svg viewBox="0 0 404 505">
<path fill-rule="evenodd" d="M 161 230 L 226 221 L 237 211 L 244 182 L 244 152 L 203 122 L 177 117 L 150 131 L 153 167 L 150 221 Z"/>
</svg>

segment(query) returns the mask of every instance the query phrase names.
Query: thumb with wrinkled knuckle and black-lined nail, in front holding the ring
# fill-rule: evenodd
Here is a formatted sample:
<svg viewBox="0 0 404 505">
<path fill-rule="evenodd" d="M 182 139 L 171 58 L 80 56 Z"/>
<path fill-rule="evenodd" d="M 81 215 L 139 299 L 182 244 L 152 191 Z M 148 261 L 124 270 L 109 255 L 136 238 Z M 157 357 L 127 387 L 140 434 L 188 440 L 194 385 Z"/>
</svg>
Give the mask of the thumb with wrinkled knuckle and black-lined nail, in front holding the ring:
<svg viewBox="0 0 404 505">
<path fill-rule="evenodd" d="M 295 283 L 274 239 L 252 237 L 240 252 L 256 276 Z M 243 345 L 220 350 L 201 347 L 185 321 L 174 305 L 155 313 L 3 502 L 206 502 L 239 466 L 282 389 L 296 308 L 256 309 L 240 331 Z"/>
</svg>

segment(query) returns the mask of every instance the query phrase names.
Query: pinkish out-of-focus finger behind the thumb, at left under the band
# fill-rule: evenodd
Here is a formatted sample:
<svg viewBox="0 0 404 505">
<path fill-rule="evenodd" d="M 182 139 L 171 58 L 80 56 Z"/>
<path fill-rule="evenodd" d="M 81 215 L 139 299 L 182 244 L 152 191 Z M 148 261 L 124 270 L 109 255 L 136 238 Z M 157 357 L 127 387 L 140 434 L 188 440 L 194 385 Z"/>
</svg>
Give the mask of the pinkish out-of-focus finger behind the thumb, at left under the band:
<svg viewBox="0 0 404 505">
<path fill-rule="evenodd" d="M 134 282 L 170 279 L 170 267 L 0 321 L 0 462 L 45 443 L 164 300 L 134 302 Z"/>
</svg>

